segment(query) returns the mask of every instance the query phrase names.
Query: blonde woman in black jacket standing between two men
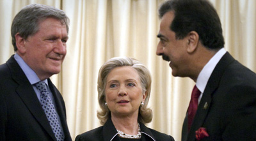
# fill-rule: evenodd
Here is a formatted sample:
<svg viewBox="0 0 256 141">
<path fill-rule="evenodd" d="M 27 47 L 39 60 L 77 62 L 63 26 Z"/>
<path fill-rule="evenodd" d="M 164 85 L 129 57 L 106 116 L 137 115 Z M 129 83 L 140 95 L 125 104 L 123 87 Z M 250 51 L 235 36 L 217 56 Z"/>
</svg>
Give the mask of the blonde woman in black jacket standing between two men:
<svg viewBox="0 0 256 141">
<path fill-rule="evenodd" d="M 152 120 L 147 108 L 151 77 L 148 69 L 130 57 L 109 59 L 99 70 L 97 117 L 103 126 L 76 140 L 174 140 L 145 126 Z"/>
</svg>

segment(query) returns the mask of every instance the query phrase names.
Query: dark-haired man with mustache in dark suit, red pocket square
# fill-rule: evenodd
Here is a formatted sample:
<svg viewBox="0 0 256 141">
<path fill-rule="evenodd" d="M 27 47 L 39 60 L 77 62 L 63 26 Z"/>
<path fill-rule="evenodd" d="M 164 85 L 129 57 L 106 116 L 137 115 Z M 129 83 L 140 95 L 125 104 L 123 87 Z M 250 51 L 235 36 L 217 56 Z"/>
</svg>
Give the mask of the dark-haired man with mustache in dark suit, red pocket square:
<svg viewBox="0 0 256 141">
<path fill-rule="evenodd" d="M 191 100 L 199 104 L 194 115 L 188 108 L 182 140 L 256 140 L 256 75 L 223 48 L 212 4 L 166 1 L 159 17 L 156 54 L 170 61 L 174 77 L 194 80 L 199 96 Z"/>
</svg>

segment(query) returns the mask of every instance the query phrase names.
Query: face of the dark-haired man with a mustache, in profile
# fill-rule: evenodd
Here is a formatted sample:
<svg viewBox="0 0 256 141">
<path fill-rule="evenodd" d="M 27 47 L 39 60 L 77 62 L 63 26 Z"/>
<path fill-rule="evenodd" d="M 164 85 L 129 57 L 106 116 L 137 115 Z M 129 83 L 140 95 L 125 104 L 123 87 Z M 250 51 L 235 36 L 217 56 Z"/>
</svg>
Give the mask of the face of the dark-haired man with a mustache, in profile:
<svg viewBox="0 0 256 141">
<path fill-rule="evenodd" d="M 173 18 L 175 17 L 173 11 L 165 13 L 161 19 L 160 29 L 157 37 L 160 39 L 156 54 L 163 56 L 165 61 L 170 62 L 169 66 L 172 68 L 172 75 L 184 77 L 184 70 L 186 70 L 186 45 L 188 41 L 186 38 L 177 40 L 175 33 L 170 29 Z"/>
</svg>

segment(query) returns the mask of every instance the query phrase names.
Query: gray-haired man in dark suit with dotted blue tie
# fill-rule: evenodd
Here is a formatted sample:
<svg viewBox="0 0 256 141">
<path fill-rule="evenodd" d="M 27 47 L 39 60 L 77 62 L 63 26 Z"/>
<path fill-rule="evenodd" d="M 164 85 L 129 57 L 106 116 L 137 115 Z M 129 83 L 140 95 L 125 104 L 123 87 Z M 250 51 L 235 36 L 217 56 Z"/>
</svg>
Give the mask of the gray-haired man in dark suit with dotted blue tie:
<svg viewBox="0 0 256 141">
<path fill-rule="evenodd" d="M 66 55 L 64 11 L 28 5 L 12 23 L 15 55 L 0 66 L 0 140 L 71 140 L 63 98 L 49 77 Z"/>
</svg>

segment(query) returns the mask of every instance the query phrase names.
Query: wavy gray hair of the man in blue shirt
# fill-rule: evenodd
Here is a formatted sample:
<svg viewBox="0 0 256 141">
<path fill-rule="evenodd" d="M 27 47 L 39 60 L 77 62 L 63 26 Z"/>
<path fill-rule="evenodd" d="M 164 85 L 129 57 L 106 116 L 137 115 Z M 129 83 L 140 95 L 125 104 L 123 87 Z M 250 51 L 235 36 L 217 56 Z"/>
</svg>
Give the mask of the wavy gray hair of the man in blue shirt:
<svg viewBox="0 0 256 141">
<path fill-rule="evenodd" d="M 19 33 L 25 40 L 39 30 L 42 20 L 54 18 L 66 25 L 68 33 L 69 19 L 64 11 L 43 4 L 29 4 L 17 13 L 12 22 L 12 45 L 17 51 L 15 34 Z"/>
</svg>

